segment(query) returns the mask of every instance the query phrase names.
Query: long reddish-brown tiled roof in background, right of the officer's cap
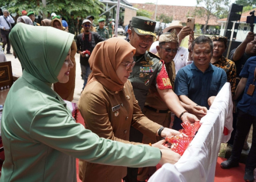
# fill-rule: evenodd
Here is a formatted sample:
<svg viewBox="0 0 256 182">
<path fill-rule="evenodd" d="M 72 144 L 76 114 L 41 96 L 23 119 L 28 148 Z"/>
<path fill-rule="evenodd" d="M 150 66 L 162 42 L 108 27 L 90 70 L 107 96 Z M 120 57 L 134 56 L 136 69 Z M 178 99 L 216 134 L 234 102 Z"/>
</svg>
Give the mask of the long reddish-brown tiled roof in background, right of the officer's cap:
<svg viewBox="0 0 256 182">
<path fill-rule="evenodd" d="M 153 12 L 151 19 L 155 17 L 155 4 L 138 4 L 132 3 L 132 6 L 138 9 L 145 9 L 149 12 Z M 186 23 L 187 17 L 195 17 L 195 23 L 205 24 L 204 17 L 198 17 L 194 15 L 197 8 L 202 8 L 206 11 L 204 7 L 191 7 L 191 6 L 170 6 L 170 5 L 157 5 L 157 16 L 165 14 L 166 16 L 172 16 L 173 20 L 180 20 L 182 23 Z M 212 16 L 208 22 L 208 25 L 221 25 L 217 22 L 218 18 Z"/>
</svg>

